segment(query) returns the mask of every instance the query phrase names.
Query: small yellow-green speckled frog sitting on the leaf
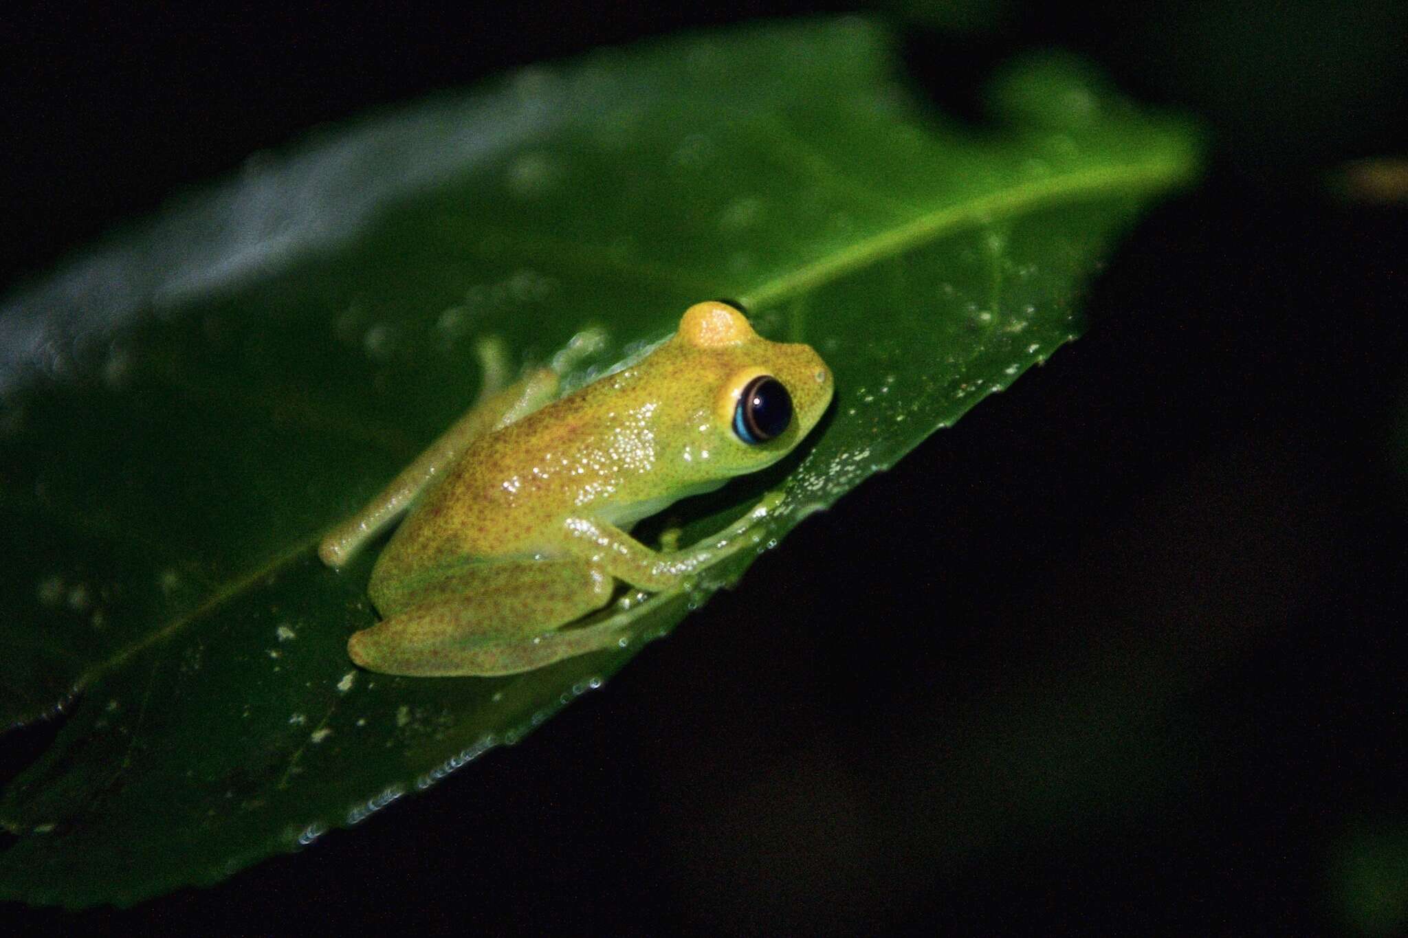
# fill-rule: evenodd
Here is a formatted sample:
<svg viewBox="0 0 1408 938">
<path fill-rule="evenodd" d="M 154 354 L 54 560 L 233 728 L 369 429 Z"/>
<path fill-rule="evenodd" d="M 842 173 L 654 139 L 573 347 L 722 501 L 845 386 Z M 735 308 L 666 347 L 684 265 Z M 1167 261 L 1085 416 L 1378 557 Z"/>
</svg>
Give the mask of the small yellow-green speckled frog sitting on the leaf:
<svg viewBox="0 0 1408 938">
<path fill-rule="evenodd" d="M 612 599 L 690 589 L 766 536 L 783 495 L 689 547 L 677 529 L 649 547 L 636 522 L 773 465 L 834 392 L 810 345 L 765 339 L 722 301 L 689 307 L 672 336 L 573 391 L 569 360 L 514 381 L 486 367 L 479 401 L 321 540 L 339 570 L 396 525 L 367 585 L 380 620 L 348 640 L 356 665 L 497 676 L 618 641 L 570 626 Z"/>
</svg>

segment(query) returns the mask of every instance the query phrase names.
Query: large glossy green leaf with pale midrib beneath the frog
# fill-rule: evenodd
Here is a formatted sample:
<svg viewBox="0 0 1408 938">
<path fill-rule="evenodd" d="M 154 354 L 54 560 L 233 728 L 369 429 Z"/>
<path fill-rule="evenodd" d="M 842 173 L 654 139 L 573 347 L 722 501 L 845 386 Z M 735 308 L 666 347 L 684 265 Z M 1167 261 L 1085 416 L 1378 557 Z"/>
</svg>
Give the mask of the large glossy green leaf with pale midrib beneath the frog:
<svg viewBox="0 0 1408 938">
<path fill-rule="evenodd" d="M 476 338 L 527 364 L 601 328 L 584 381 L 734 298 L 815 346 L 836 402 L 814 437 L 672 509 L 687 543 L 781 488 L 767 546 L 1074 338 L 1194 135 L 1050 58 L 964 127 L 893 45 L 805 21 L 531 69 L 253 160 L 10 295 L 0 707 L 77 696 L 0 802 L 0 896 L 131 903 L 355 824 L 742 572 L 608 613 L 625 647 L 536 672 L 353 668 L 373 558 L 337 574 L 313 544 L 473 399 Z"/>
</svg>

